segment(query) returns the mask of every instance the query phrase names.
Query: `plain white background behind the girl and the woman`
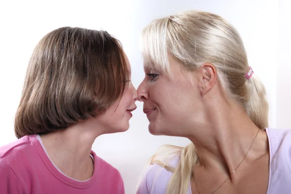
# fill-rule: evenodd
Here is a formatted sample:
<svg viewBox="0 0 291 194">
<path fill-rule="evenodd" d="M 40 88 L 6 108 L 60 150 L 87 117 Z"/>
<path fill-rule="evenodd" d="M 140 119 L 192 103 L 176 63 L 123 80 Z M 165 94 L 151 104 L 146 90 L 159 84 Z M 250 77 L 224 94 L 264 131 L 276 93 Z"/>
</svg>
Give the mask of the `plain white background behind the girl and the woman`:
<svg viewBox="0 0 291 194">
<path fill-rule="evenodd" d="M 105 2 L 106 1 L 106 2 Z M 118 38 L 129 57 L 132 82 L 144 77 L 138 50 L 141 30 L 153 19 L 184 10 L 223 16 L 240 32 L 249 64 L 265 84 L 270 126 L 291 128 L 290 0 L 25 0 L 0 1 L 0 146 L 16 140 L 13 120 L 34 46 L 63 26 L 103 29 Z M 184 146 L 187 139 L 153 136 L 138 103 L 129 131 L 98 137 L 93 150 L 122 174 L 126 194 L 134 194 L 146 160 L 162 144 Z"/>
</svg>

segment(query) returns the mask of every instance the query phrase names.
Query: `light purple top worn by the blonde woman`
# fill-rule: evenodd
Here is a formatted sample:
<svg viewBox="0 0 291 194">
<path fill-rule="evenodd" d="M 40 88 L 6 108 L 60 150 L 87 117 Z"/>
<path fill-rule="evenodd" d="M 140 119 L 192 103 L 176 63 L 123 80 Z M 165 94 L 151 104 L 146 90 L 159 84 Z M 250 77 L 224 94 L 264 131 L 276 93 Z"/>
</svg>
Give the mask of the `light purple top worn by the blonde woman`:
<svg viewBox="0 0 291 194">
<path fill-rule="evenodd" d="M 291 130 L 267 128 L 265 131 L 270 149 L 266 194 L 291 194 Z M 170 164 L 175 167 L 178 159 Z M 158 164 L 148 166 L 136 194 L 164 194 L 171 176 L 171 172 Z M 187 194 L 192 194 L 190 185 Z"/>
</svg>

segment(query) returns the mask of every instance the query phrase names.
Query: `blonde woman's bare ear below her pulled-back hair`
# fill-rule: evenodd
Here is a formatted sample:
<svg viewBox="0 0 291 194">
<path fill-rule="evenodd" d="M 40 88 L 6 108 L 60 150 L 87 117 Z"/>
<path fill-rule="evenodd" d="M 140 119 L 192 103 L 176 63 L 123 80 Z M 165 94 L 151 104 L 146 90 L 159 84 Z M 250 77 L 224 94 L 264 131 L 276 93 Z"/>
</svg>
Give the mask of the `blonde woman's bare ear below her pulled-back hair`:
<svg viewBox="0 0 291 194">
<path fill-rule="evenodd" d="M 206 62 L 199 67 L 199 83 L 201 95 L 208 93 L 216 83 L 217 71 L 216 67 Z"/>
</svg>

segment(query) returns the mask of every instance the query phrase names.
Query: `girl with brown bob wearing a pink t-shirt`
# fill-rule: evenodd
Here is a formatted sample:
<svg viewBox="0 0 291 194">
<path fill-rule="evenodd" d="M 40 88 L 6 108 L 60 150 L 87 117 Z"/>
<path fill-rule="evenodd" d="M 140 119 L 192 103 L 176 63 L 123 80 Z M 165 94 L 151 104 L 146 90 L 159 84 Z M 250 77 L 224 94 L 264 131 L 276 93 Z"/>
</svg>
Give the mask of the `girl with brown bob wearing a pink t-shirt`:
<svg viewBox="0 0 291 194">
<path fill-rule="evenodd" d="M 0 148 L 1 194 L 124 194 L 119 171 L 92 145 L 129 129 L 137 93 L 121 44 L 107 31 L 64 27 L 36 45 Z"/>
</svg>

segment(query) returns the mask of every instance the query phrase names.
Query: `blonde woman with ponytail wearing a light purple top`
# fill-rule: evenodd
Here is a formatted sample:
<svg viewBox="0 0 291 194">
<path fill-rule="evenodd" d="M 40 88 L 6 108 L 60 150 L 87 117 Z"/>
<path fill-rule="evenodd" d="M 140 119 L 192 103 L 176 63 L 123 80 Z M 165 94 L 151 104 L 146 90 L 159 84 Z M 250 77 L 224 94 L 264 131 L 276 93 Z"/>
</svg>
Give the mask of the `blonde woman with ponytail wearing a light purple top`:
<svg viewBox="0 0 291 194">
<path fill-rule="evenodd" d="M 142 33 L 149 132 L 187 137 L 149 160 L 137 194 L 288 194 L 291 131 L 268 128 L 266 91 L 238 32 L 222 17 L 187 11 Z"/>
</svg>

